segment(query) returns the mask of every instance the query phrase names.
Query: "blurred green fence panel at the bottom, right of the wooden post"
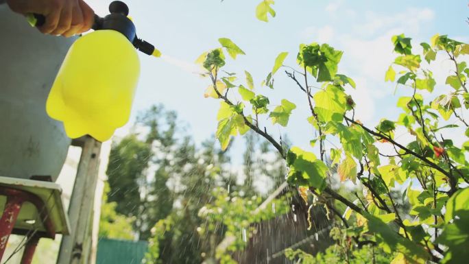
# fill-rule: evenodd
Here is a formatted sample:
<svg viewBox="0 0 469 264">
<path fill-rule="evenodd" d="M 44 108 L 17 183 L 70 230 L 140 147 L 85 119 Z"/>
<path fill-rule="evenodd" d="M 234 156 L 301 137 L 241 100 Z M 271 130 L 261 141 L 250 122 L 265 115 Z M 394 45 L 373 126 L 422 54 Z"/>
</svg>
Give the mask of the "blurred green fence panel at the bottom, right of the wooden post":
<svg viewBox="0 0 469 264">
<path fill-rule="evenodd" d="M 147 241 L 100 239 L 96 264 L 141 264 L 147 250 Z"/>
</svg>

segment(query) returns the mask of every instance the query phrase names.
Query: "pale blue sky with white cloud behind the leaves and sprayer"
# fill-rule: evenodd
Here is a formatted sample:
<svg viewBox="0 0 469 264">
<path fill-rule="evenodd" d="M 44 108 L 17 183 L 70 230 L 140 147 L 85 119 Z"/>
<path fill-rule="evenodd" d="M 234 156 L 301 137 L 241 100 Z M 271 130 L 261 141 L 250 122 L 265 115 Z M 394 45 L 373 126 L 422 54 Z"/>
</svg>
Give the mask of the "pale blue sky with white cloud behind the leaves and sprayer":
<svg viewBox="0 0 469 264">
<path fill-rule="evenodd" d="M 272 127 L 264 120 L 273 136 L 290 135 L 293 143 L 308 145 L 313 130 L 307 117 L 306 98 L 283 71 L 276 75 L 275 90 L 259 84 L 272 70 L 274 59 L 288 51 L 285 64 L 294 66 L 300 43 L 327 42 L 344 51 L 339 72 L 357 82 L 349 90 L 357 102 L 357 118 L 374 126 L 381 117 L 394 119 L 398 95 L 409 91 L 385 83 L 384 74 L 394 59 L 391 36 L 405 33 L 413 46 L 429 41 L 436 33 L 467 41 L 468 1 L 320 1 L 278 0 L 277 16 L 269 23 L 254 15 L 260 0 L 134 0 L 127 1 L 139 37 L 153 43 L 163 58 L 141 54 L 141 79 L 134 99 L 132 119 L 152 104 L 162 103 L 176 110 L 180 119 L 190 125 L 196 142 L 212 136 L 217 127 L 219 101 L 204 98 L 209 81 L 193 71 L 194 60 L 203 52 L 219 47 L 218 38 L 231 38 L 246 56 L 228 59 L 226 71 L 248 70 L 254 76 L 256 93 L 268 95 L 272 104 L 286 98 L 297 104 L 291 125 Z M 88 1 L 98 14 L 107 13 L 108 1 Z M 437 83 L 444 84 L 449 64 L 435 63 Z M 444 87 L 442 87 L 444 89 Z M 466 113 L 466 115 L 468 115 Z M 124 134 L 123 129 L 117 134 Z M 294 135 L 294 137 L 293 137 Z M 235 147 L 237 152 L 238 147 Z"/>
</svg>

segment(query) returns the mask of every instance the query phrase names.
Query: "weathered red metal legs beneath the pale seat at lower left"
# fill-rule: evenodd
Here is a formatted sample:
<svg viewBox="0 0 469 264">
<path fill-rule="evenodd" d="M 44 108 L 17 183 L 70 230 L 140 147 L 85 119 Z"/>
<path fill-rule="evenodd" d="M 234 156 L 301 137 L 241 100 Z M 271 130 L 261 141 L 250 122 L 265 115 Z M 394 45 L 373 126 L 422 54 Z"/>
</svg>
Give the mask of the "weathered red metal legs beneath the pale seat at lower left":
<svg viewBox="0 0 469 264">
<path fill-rule="evenodd" d="M 36 210 L 38 211 L 40 219 L 43 221 L 43 225 L 46 229 L 46 235 L 43 237 L 51 239 L 56 237 L 56 232 L 53 228 L 51 218 L 49 217 L 49 212 L 47 212 L 47 208 L 40 197 L 27 191 L 3 186 L 0 186 L 0 195 L 7 197 L 3 215 L 0 218 L 0 259 L 2 258 L 3 253 L 5 253 L 8 238 L 12 234 L 14 225 L 16 224 L 16 219 L 21 211 L 21 206 L 25 202 L 30 202 L 36 206 Z M 31 263 L 40 238 L 40 235 L 33 235 L 32 237 L 27 238 L 26 248 L 23 253 L 23 258 L 21 259 L 21 264 Z"/>
</svg>

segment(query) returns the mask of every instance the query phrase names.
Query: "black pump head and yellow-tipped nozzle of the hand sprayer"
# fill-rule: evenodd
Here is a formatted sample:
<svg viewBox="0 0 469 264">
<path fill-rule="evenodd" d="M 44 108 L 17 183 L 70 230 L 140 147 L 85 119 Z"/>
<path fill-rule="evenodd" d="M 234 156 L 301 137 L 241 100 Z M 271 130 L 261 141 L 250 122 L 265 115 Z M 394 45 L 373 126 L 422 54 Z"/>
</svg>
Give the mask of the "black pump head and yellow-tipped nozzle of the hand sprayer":
<svg viewBox="0 0 469 264">
<path fill-rule="evenodd" d="M 95 22 L 91 28 L 94 30 L 112 29 L 120 32 L 139 51 L 150 56 L 159 57 L 159 51 L 155 49 L 154 45 L 137 38 L 135 25 L 128 18 L 129 8 L 125 3 L 122 1 L 112 1 L 109 5 L 109 12 L 110 14 L 104 16 L 104 18 L 95 14 Z M 45 16 L 42 14 L 28 14 L 27 21 L 33 27 L 40 27 L 45 23 Z"/>
</svg>

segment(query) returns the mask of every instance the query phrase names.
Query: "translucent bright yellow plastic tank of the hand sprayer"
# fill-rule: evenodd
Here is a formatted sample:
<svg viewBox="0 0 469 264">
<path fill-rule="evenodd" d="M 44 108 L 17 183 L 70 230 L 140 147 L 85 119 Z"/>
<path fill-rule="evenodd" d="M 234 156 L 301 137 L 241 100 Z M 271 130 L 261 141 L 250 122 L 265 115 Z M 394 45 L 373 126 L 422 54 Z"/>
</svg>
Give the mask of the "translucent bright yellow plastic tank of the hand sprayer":
<svg viewBox="0 0 469 264">
<path fill-rule="evenodd" d="M 47 114 L 72 139 L 107 141 L 130 117 L 140 74 L 136 49 L 121 33 L 98 30 L 78 38 L 47 98 Z"/>
</svg>

